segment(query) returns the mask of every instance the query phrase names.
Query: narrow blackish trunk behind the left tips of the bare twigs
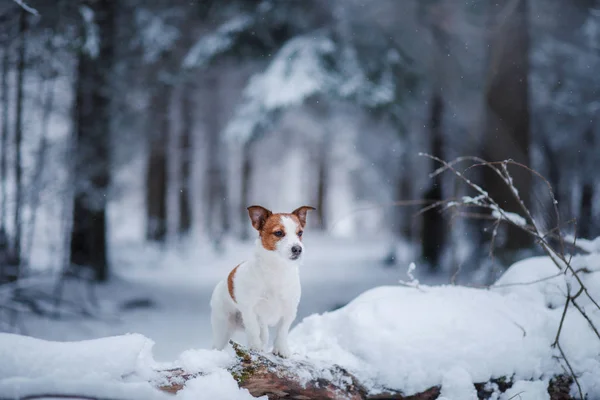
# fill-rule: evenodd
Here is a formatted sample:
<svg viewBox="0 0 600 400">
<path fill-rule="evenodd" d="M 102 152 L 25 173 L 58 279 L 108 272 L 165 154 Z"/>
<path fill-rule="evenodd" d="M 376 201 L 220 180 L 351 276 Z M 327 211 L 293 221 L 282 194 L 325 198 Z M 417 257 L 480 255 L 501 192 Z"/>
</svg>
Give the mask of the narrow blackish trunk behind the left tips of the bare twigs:
<svg viewBox="0 0 600 400">
<path fill-rule="evenodd" d="M 437 91 L 434 92 L 431 100 L 430 114 L 430 136 L 431 151 L 434 156 L 444 159 L 442 143 L 442 118 L 444 115 L 444 101 Z M 432 171 L 436 165 L 432 163 Z M 442 200 L 442 179 L 441 175 L 436 175 L 431 180 L 431 185 L 424 193 L 423 198 L 426 201 L 438 202 Z M 446 227 L 444 226 L 444 216 L 437 209 L 430 210 L 423 214 L 423 226 L 421 230 L 421 256 L 429 264 L 431 271 L 437 271 L 440 267 L 440 258 L 446 242 Z"/>
</svg>

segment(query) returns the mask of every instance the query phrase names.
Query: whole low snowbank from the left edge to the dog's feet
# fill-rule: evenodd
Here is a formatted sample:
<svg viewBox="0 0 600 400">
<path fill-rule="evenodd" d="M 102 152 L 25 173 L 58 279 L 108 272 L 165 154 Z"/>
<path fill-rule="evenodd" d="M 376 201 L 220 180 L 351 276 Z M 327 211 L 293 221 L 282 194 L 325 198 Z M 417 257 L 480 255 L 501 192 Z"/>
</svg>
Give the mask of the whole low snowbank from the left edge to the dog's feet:
<svg viewBox="0 0 600 400">
<path fill-rule="evenodd" d="M 232 355 L 209 350 L 188 350 L 173 364 L 156 363 L 154 342 L 128 334 L 80 342 L 51 342 L 0 333 L 0 395 L 81 396 L 128 400 L 165 400 L 173 396 L 158 390 L 157 369 L 183 367 L 202 375 L 188 382 L 182 399 L 247 400 L 225 369 Z"/>
</svg>

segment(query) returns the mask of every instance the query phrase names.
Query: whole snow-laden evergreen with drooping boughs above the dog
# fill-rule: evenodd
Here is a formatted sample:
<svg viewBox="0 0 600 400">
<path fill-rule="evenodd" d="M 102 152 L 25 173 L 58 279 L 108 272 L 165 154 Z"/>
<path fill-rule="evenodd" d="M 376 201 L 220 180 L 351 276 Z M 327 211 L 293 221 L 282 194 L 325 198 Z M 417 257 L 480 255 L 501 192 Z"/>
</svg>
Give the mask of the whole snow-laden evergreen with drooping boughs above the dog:
<svg viewBox="0 0 600 400">
<path fill-rule="evenodd" d="M 399 131 L 406 128 L 405 100 L 417 79 L 410 60 L 387 32 L 361 23 L 346 7 L 339 1 L 262 1 L 226 18 L 184 59 L 187 68 L 228 56 L 264 65 L 224 129 L 225 138 L 243 148 L 243 179 L 251 175 L 252 143 L 283 111 L 313 99 L 349 102 L 385 116 Z M 242 205 L 246 196 L 242 190 Z"/>
</svg>

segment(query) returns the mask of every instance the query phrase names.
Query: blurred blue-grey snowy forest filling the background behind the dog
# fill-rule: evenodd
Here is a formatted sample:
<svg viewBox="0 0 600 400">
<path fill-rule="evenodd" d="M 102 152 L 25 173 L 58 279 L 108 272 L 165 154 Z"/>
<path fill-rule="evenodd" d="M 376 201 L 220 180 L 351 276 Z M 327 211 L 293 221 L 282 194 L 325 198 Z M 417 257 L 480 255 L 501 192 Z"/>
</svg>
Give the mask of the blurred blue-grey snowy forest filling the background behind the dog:
<svg viewBox="0 0 600 400">
<path fill-rule="evenodd" d="M 470 194 L 419 152 L 531 166 L 562 228 L 600 235 L 598 0 L 1 0 L 0 43 L 7 312 L 45 310 L 15 281 L 59 276 L 58 301 L 134 244 L 230 251 L 251 204 L 315 206 L 315 235 L 385 244 L 372 268 L 446 281 L 535 251 L 503 226 L 492 260 L 493 221 L 418 214 Z M 513 174 L 550 230 L 544 182 Z"/>
</svg>

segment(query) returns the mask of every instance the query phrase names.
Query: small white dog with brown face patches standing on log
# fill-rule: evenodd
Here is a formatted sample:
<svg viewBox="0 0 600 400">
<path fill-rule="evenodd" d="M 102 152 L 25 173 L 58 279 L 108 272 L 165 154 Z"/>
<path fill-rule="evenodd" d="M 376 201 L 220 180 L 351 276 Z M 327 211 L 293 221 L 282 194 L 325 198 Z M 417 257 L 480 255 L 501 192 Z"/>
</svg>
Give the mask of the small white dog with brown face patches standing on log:
<svg viewBox="0 0 600 400">
<path fill-rule="evenodd" d="M 251 260 L 233 268 L 220 281 L 210 300 L 213 348 L 225 348 L 236 330 L 245 330 L 248 347 L 264 351 L 269 327 L 276 326 L 273 353 L 290 357 L 288 331 L 300 302 L 300 275 L 306 214 L 302 206 L 291 213 L 273 213 L 261 206 L 248 207 L 258 231 Z"/>
</svg>

